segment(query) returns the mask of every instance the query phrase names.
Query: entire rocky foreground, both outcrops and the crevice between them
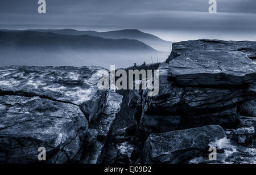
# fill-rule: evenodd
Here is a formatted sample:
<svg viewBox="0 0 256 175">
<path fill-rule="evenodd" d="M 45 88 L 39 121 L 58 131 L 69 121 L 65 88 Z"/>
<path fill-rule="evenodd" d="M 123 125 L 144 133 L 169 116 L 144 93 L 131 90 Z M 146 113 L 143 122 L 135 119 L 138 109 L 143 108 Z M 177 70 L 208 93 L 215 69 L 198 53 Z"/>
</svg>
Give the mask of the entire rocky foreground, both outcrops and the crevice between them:
<svg viewBox="0 0 256 175">
<path fill-rule="evenodd" d="M 99 90 L 96 66 L 1 67 L 0 162 L 45 147 L 47 163 L 256 163 L 255 56 L 251 41 L 174 43 L 157 96 Z"/>
</svg>

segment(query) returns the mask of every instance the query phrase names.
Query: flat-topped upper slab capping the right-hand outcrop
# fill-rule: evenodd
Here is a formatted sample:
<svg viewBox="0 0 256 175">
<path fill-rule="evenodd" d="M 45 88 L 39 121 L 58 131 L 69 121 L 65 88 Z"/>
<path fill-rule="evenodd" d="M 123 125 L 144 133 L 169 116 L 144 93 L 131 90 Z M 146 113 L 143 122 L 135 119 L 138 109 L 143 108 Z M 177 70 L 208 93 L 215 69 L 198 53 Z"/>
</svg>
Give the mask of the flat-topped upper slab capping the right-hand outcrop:
<svg viewBox="0 0 256 175">
<path fill-rule="evenodd" d="M 176 42 L 168 58 L 169 79 L 183 86 L 248 84 L 256 78 L 256 42 Z"/>
</svg>

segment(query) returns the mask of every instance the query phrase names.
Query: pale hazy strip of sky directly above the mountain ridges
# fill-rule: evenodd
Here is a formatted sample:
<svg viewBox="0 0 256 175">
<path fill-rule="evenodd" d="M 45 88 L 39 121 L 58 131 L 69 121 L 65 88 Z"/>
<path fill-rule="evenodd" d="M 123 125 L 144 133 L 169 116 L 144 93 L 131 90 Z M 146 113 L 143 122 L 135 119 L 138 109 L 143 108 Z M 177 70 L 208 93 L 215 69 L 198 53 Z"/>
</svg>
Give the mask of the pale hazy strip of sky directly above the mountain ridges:
<svg viewBox="0 0 256 175">
<path fill-rule="evenodd" d="M 198 39 L 236 40 L 236 41 L 256 41 L 256 28 L 213 28 L 213 27 L 173 27 L 170 30 L 146 29 L 146 28 L 118 28 L 118 27 L 88 27 L 72 25 L 6 25 L 0 24 L 0 29 L 75 29 L 77 31 L 108 32 L 122 29 L 138 29 L 141 32 L 155 35 L 162 40 L 179 42 Z"/>
</svg>

